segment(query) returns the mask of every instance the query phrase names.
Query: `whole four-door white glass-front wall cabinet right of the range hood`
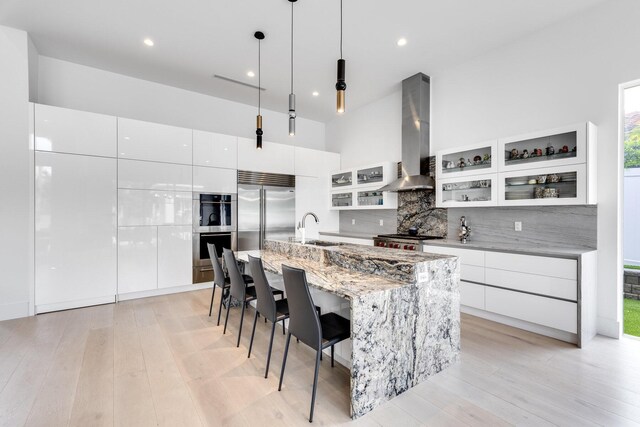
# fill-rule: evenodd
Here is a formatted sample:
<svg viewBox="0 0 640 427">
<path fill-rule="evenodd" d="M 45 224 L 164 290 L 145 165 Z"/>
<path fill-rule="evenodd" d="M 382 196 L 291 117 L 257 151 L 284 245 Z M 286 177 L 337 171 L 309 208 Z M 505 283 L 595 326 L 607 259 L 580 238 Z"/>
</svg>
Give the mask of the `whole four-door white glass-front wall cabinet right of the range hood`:
<svg viewBox="0 0 640 427">
<path fill-rule="evenodd" d="M 596 133 L 595 125 L 586 122 L 501 138 L 497 142 L 497 162 L 493 161 L 495 155 L 488 157 L 478 153 L 470 158 L 474 150 L 486 151 L 494 146 L 488 143 L 440 151 L 437 153 L 436 205 L 596 204 Z M 464 160 L 465 153 L 469 153 L 467 161 Z M 458 155 L 459 167 L 456 169 L 454 157 Z M 484 159 L 491 160 L 489 167 L 485 167 Z M 467 177 L 470 168 L 474 171 L 484 168 L 493 173 Z M 456 178 L 450 178 L 450 175 Z"/>
</svg>

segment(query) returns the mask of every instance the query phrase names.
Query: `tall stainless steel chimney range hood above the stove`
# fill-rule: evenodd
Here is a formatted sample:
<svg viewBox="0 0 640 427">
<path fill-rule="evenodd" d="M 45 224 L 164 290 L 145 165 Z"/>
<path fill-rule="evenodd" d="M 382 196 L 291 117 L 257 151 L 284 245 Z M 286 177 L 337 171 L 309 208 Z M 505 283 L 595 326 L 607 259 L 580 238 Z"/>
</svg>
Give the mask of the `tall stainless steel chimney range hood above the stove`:
<svg viewBox="0 0 640 427">
<path fill-rule="evenodd" d="M 380 191 L 433 190 L 435 182 L 420 174 L 429 157 L 430 79 L 422 73 L 402 81 L 402 178 Z"/>
</svg>

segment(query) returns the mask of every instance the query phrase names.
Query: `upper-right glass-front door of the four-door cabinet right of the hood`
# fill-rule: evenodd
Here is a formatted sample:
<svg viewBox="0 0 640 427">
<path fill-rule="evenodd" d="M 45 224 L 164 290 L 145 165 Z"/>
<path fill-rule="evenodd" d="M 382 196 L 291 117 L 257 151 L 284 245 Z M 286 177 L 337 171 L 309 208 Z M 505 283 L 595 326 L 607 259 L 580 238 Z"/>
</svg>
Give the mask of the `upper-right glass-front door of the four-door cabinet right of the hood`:
<svg viewBox="0 0 640 427">
<path fill-rule="evenodd" d="M 585 163 L 594 137 L 595 126 L 587 122 L 503 138 L 498 141 L 498 168 L 507 172 Z"/>
</svg>

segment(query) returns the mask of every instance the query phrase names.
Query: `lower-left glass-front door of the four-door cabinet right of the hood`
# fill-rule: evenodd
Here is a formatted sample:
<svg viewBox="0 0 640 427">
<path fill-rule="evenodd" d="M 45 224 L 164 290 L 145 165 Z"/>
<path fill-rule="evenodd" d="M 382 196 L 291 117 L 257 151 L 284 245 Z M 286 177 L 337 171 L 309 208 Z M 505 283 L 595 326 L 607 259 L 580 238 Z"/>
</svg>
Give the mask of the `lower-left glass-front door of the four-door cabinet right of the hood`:
<svg viewBox="0 0 640 427">
<path fill-rule="evenodd" d="M 436 205 L 441 208 L 497 206 L 496 174 L 441 179 L 436 182 Z"/>
</svg>

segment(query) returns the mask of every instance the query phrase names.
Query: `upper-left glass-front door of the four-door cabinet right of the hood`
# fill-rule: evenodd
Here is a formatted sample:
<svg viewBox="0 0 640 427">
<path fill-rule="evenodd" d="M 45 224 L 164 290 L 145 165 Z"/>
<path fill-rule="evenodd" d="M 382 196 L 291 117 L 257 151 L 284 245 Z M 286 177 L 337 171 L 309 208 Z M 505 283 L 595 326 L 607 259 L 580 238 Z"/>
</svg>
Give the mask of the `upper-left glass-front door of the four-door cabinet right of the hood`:
<svg viewBox="0 0 640 427">
<path fill-rule="evenodd" d="M 439 151 L 436 154 L 436 176 L 440 179 L 458 178 L 497 171 L 498 141 L 487 141 Z"/>
</svg>

